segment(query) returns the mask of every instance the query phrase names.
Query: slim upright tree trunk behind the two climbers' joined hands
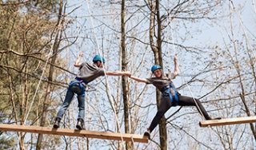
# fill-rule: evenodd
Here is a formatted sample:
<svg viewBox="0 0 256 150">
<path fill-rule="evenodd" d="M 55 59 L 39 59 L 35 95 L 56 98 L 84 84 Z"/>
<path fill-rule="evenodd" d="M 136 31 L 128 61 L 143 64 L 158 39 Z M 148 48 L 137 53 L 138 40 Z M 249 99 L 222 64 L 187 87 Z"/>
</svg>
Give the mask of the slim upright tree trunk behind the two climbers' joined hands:
<svg viewBox="0 0 256 150">
<path fill-rule="evenodd" d="M 121 50 L 122 50 L 122 70 L 127 69 L 126 62 L 126 0 L 122 0 L 121 8 Z M 125 132 L 130 133 L 129 125 L 129 98 L 128 98 L 128 80 L 127 77 L 122 76 L 122 99 L 124 107 L 124 120 L 125 120 Z M 126 150 L 133 149 L 133 144 L 131 142 L 126 142 Z"/>
</svg>

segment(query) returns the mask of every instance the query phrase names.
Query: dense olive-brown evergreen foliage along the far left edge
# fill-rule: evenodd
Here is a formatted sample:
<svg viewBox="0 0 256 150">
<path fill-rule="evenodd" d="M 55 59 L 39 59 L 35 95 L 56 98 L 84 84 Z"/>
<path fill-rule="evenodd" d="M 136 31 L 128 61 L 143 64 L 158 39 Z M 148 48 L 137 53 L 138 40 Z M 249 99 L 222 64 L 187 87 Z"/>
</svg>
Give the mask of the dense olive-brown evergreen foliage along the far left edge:
<svg viewBox="0 0 256 150">
<path fill-rule="evenodd" d="M 37 74 L 42 73 L 42 62 L 38 58 L 44 59 L 49 50 L 46 48 L 50 39 L 46 38 L 46 33 L 52 32 L 54 22 L 37 14 L 20 14 L 17 7 L 12 6 L 2 6 L 0 18 L 3 21 L 0 27 L 0 69 L 3 79 L 0 97 L 4 104 L 12 107 L 10 110 L 18 111 L 10 113 L 17 113 L 18 118 L 24 117 L 27 104 L 35 92 L 33 87 L 38 83 L 33 75 L 38 77 Z"/>
</svg>

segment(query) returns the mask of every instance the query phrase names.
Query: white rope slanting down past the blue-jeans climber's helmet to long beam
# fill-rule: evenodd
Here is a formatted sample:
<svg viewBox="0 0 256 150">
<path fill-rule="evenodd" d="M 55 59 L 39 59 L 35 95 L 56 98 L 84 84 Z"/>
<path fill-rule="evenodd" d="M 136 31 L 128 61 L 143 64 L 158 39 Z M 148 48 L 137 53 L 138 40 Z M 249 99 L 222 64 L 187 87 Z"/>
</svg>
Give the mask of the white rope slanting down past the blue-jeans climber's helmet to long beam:
<svg viewBox="0 0 256 150">
<path fill-rule="evenodd" d="M 91 23 L 91 26 L 94 26 L 94 22 L 93 22 L 93 19 L 92 19 L 92 15 L 91 15 L 91 11 L 90 11 L 90 4 L 88 2 L 89 0 L 86 0 L 86 3 L 87 3 L 87 8 L 88 8 L 88 12 L 89 12 L 89 16 L 90 16 L 90 23 Z M 97 51 L 98 53 L 100 54 L 100 50 L 98 49 L 98 41 L 97 41 L 97 37 L 96 37 L 96 34 L 94 32 L 94 28 L 92 29 L 93 30 L 93 33 L 94 33 L 94 39 L 95 39 L 95 44 L 96 44 L 96 47 L 97 47 Z M 102 55 L 101 55 L 102 56 Z M 102 58 L 101 58 L 102 59 Z M 103 61 L 102 61 L 103 62 Z M 125 144 L 124 144 L 124 140 L 123 140 L 123 136 L 122 136 L 122 131 L 121 131 L 121 126 L 119 124 L 119 121 L 118 121 L 118 116 L 117 116 L 117 112 L 116 110 L 114 109 L 114 103 L 113 103 L 113 98 L 110 97 L 111 94 L 110 94 L 110 88 L 109 88 L 109 81 L 106 77 L 106 69 L 105 69 L 105 65 L 104 63 L 102 63 L 102 69 L 104 70 L 104 74 L 105 74 L 105 80 L 106 80 L 106 93 L 107 93 L 107 96 L 108 96 L 108 100 L 110 101 L 110 105 L 114 111 L 114 116 L 115 116 L 115 120 L 117 122 L 117 126 L 118 126 L 118 130 L 120 131 L 120 135 L 121 135 L 121 139 L 122 139 L 122 149 L 125 148 Z"/>
</svg>

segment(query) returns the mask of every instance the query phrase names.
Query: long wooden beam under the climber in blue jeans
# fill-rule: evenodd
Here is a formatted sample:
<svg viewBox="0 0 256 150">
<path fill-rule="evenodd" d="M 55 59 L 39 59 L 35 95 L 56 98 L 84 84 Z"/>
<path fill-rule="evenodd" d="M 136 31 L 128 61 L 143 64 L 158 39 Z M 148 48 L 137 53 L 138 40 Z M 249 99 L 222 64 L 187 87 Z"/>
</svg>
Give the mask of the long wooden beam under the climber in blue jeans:
<svg viewBox="0 0 256 150">
<path fill-rule="evenodd" d="M 75 130 L 68 128 L 50 128 L 39 126 L 27 125 L 14 125 L 14 124 L 0 124 L 0 131 L 13 131 L 13 132 L 33 132 L 42 134 L 53 134 L 59 136 L 82 136 L 88 138 L 106 139 L 106 140 L 126 140 L 147 143 L 148 138 L 142 135 L 125 134 L 117 132 L 95 132 L 87 130 Z"/>
</svg>

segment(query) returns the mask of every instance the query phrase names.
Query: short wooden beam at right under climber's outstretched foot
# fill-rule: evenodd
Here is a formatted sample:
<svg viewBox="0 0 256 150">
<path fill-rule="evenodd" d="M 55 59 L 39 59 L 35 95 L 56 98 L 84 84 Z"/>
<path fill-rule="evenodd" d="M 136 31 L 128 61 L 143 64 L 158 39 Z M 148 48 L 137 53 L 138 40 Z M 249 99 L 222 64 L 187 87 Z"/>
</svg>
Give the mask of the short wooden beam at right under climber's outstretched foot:
<svg viewBox="0 0 256 150">
<path fill-rule="evenodd" d="M 226 118 L 221 120 L 202 120 L 199 122 L 200 127 L 230 125 L 230 124 L 247 124 L 256 122 L 256 116 L 245 116 L 236 118 Z"/>
</svg>

